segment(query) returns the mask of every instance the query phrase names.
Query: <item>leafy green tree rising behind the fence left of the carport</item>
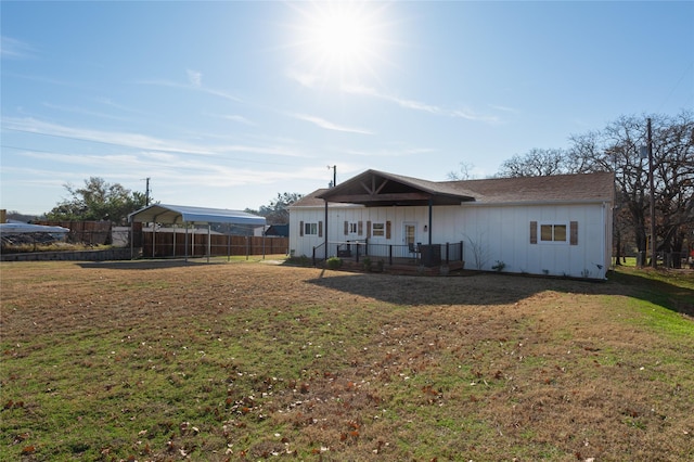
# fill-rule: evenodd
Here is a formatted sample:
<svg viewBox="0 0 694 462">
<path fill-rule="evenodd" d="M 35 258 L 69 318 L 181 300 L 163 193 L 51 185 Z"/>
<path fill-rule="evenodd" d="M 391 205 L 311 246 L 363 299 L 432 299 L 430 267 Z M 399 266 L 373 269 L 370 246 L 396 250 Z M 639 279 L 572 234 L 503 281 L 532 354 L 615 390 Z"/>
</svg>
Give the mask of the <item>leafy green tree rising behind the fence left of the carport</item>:
<svg viewBox="0 0 694 462">
<path fill-rule="evenodd" d="M 83 188 L 64 185 L 70 197 L 57 204 L 46 214 L 52 221 L 100 221 L 116 224 L 127 221 L 128 214 L 145 206 L 146 197 L 140 192 L 131 192 L 119 183 L 107 183 L 102 178 L 85 180 Z"/>
</svg>

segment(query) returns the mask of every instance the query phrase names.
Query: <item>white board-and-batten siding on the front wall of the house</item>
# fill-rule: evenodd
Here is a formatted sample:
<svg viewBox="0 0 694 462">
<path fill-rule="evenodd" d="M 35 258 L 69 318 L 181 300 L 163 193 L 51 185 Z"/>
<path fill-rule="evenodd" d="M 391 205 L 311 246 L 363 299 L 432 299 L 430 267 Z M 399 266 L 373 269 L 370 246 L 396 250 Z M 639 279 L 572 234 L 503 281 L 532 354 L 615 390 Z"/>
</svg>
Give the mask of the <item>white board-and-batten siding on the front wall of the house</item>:
<svg viewBox="0 0 694 462">
<path fill-rule="evenodd" d="M 429 230 L 426 206 L 331 204 L 327 227 L 324 207 L 296 207 L 290 216 L 290 248 L 295 256 L 310 257 L 313 247 L 324 244 L 326 229 L 330 243 L 369 238 L 373 244 L 402 245 L 403 223 L 408 222 L 416 226 L 416 242 L 427 243 L 429 231 L 435 244 L 463 242 L 468 269 L 492 271 L 492 267 L 503 262 L 505 272 L 604 279 L 609 267 L 611 244 L 605 233 L 612 229 L 611 217 L 609 208 L 597 203 L 522 207 L 463 204 L 434 207 Z M 344 222 L 362 226 L 345 234 Z M 388 234 L 368 233 L 368 222 L 371 226 L 387 223 Z M 535 238 L 532 227 L 536 227 Z M 563 241 L 543 241 L 542 227 L 563 228 L 566 235 Z M 329 249 L 329 257 L 330 253 Z"/>
</svg>

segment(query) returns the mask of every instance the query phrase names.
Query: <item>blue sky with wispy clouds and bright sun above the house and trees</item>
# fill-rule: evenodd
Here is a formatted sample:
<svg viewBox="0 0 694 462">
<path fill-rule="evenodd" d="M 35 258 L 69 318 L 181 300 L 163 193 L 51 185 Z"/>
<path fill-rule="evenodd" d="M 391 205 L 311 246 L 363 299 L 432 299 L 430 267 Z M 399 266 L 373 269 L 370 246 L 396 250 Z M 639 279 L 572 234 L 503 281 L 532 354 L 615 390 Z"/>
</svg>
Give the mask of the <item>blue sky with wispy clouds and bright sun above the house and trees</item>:
<svg viewBox="0 0 694 462">
<path fill-rule="evenodd" d="M 694 2 L 0 4 L 0 208 L 101 177 L 258 208 L 373 168 L 446 180 L 694 108 Z"/>
</svg>

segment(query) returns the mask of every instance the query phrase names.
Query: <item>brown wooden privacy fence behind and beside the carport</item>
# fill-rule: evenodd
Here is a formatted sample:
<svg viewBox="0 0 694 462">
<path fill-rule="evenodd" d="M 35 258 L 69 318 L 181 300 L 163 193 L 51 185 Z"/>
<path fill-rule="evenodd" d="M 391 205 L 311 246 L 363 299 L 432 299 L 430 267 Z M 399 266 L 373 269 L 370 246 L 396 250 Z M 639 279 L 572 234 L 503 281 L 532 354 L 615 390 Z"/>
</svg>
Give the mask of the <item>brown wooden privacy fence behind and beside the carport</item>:
<svg viewBox="0 0 694 462">
<path fill-rule="evenodd" d="M 154 245 L 152 238 L 154 235 Z M 188 254 L 185 240 L 188 239 Z M 177 232 L 142 232 L 143 257 L 201 257 L 207 256 L 207 233 Z M 259 238 L 245 235 L 209 235 L 209 256 L 230 255 L 271 255 L 286 254 L 290 248 L 288 238 Z"/>
</svg>

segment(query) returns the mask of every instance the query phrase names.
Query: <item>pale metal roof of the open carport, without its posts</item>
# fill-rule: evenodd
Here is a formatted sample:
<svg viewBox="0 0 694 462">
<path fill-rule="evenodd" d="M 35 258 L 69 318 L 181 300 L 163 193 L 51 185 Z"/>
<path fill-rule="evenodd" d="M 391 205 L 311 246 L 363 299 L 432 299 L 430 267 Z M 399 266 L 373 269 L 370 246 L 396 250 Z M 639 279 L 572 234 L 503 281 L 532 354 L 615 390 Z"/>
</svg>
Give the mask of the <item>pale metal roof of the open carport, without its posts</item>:
<svg viewBox="0 0 694 462">
<path fill-rule="evenodd" d="M 153 204 L 128 215 L 128 221 L 179 223 L 234 223 L 264 226 L 265 217 L 228 208 L 191 207 L 187 205 Z"/>
</svg>

